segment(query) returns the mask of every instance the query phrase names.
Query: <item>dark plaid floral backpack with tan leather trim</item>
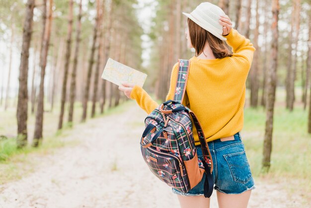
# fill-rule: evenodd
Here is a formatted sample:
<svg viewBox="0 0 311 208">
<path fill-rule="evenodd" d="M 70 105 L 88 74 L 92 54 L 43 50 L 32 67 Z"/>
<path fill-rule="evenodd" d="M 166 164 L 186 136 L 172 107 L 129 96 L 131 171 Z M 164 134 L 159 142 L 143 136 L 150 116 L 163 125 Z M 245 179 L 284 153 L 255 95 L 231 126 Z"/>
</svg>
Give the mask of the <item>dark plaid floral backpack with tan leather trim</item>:
<svg viewBox="0 0 311 208">
<path fill-rule="evenodd" d="M 178 59 L 179 71 L 174 101 L 160 104 L 146 118 L 141 151 L 150 170 L 174 189 L 187 193 L 206 173 L 204 196 L 213 192 L 213 162 L 201 125 L 195 114 L 182 104 L 189 73 L 189 61 Z M 198 159 L 192 121 L 196 126 L 205 160 Z"/>
</svg>

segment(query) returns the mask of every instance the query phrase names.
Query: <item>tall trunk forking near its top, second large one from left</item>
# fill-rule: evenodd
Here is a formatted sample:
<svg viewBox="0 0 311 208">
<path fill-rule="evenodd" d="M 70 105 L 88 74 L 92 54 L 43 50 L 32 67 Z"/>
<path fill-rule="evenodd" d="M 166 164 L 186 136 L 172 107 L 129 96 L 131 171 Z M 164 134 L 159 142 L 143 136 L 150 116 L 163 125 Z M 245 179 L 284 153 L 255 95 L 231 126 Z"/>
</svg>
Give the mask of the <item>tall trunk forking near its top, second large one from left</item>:
<svg viewBox="0 0 311 208">
<path fill-rule="evenodd" d="M 44 113 L 44 76 L 45 76 L 45 67 L 47 63 L 47 56 L 49 50 L 49 42 L 51 35 L 51 27 L 52 27 L 52 7 L 53 0 L 49 0 L 49 17 L 48 21 L 46 21 L 46 8 L 47 2 L 43 0 L 43 35 L 42 35 L 42 48 L 40 54 L 40 68 L 41 68 L 41 79 L 40 79 L 40 88 L 39 88 L 39 96 L 38 96 L 38 107 L 36 114 L 36 124 L 35 124 L 35 132 L 33 137 L 33 147 L 37 147 L 39 145 L 40 140 L 42 140 L 42 131 L 43 131 L 43 113 Z"/>
</svg>

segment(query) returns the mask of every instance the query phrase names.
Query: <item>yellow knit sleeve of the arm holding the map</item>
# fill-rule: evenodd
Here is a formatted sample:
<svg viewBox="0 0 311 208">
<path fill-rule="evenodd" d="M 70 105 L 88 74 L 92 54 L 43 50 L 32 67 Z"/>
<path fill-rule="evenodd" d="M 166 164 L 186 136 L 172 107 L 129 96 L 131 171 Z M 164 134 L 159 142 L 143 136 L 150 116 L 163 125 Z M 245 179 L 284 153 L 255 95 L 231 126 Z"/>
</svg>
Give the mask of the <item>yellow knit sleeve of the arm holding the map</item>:
<svg viewBox="0 0 311 208">
<path fill-rule="evenodd" d="M 175 86 L 178 76 L 178 62 L 174 65 L 171 75 L 170 75 L 170 85 L 166 100 L 173 100 L 175 95 Z M 132 89 L 130 98 L 136 100 L 137 104 L 150 114 L 159 104 L 154 101 L 150 95 L 139 85 L 135 85 Z"/>
</svg>

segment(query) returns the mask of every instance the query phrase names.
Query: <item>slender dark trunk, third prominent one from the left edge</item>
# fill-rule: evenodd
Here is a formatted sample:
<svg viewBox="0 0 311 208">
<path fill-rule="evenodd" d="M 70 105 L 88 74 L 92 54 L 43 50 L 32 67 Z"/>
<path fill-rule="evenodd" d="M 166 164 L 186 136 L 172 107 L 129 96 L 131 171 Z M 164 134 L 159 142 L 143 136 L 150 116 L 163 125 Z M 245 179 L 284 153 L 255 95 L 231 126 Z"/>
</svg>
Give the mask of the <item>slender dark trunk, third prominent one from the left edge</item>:
<svg viewBox="0 0 311 208">
<path fill-rule="evenodd" d="M 63 78 L 63 87 L 62 87 L 61 112 L 60 112 L 60 118 L 58 122 L 58 129 L 63 128 L 68 71 L 69 71 L 69 64 L 70 64 L 70 57 L 71 57 L 71 37 L 72 37 L 72 31 L 73 31 L 73 4 L 74 4 L 74 0 L 70 0 L 69 1 L 67 42 L 66 42 L 66 56 L 65 56 L 66 59 L 65 59 L 64 78 Z"/>
</svg>

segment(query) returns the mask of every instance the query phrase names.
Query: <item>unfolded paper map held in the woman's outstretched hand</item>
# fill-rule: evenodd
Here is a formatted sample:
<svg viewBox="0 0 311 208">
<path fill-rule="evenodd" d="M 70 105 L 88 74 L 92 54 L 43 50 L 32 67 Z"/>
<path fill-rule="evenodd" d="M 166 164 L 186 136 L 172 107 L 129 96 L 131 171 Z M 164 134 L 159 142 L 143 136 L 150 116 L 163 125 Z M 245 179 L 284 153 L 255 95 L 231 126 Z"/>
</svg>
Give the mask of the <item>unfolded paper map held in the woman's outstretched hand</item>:
<svg viewBox="0 0 311 208">
<path fill-rule="evenodd" d="M 109 58 L 101 78 L 119 86 L 125 82 L 143 87 L 147 74 Z"/>
</svg>

